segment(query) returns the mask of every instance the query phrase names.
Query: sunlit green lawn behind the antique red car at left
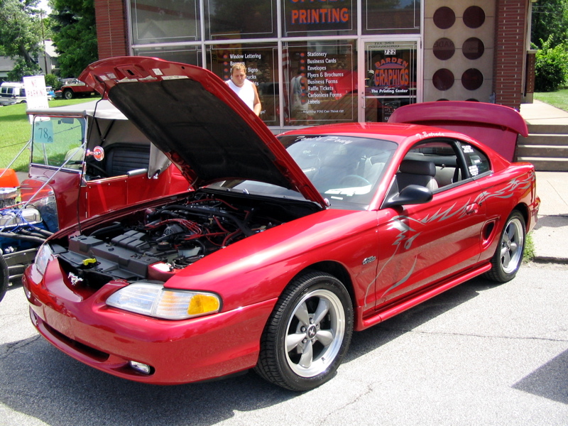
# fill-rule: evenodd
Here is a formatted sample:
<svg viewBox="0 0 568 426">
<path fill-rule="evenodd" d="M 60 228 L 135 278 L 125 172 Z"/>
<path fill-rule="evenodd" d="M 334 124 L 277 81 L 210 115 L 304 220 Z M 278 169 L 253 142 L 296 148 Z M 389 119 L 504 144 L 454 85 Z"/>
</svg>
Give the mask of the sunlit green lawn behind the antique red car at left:
<svg viewBox="0 0 568 426">
<path fill-rule="evenodd" d="M 49 102 L 50 107 L 81 104 L 93 101 L 95 97 L 80 99 L 55 99 Z M 31 124 L 26 114 L 26 104 L 0 107 L 0 168 L 6 168 L 16 155 L 26 146 L 31 137 Z M 30 151 L 24 150 L 14 161 L 11 168 L 26 172 L 30 162 Z"/>
</svg>

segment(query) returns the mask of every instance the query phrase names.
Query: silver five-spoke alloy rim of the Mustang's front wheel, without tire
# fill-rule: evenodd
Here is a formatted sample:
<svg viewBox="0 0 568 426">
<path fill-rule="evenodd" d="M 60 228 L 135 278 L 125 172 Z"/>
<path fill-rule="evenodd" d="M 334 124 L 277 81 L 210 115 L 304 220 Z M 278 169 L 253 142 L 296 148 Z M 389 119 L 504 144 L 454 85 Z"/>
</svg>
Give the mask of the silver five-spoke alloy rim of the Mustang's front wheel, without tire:
<svg viewBox="0 0 568 426">
<path fill-rule="evenodd" d="M 331 291 L 304 295 L 288 321 L 285 351 L 290 369 L 300 377 L 324 372 L 342 346 L 345 320 L 342 302 Z"/>
</svg>

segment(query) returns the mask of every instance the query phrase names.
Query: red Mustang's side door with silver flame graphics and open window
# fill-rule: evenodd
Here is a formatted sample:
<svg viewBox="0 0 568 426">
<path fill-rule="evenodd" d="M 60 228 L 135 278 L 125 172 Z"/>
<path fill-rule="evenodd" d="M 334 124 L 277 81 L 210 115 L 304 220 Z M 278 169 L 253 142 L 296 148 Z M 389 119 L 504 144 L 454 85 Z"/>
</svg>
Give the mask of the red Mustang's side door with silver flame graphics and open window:
<svg viewBox="0 0 568 426">
<path fill-rule="evenodd" d="M 435 163 L 435 187 L 429 202 L 386 207 L 379 214 L 379 305 L 406 297 L 478 261 L 485 205 L 463 149 L 457 141 L 437 139 L 420 143 L 405 155 L 407 160 Z M 387 198 L 402 189 L 400 174 Z"/>
</svg>

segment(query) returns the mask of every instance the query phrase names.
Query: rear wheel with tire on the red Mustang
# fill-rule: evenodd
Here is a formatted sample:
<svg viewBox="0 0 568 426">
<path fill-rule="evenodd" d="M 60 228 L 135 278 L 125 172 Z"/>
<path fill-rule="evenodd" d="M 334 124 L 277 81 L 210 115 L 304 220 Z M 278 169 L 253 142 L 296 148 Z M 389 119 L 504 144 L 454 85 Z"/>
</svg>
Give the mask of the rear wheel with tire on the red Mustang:
<svg viewBox="0 0 568 426">
<path fill-rule="evenodd" d="M 506 283 L 515 278 L 523 262 L 525 236 L 525 218 L 515 210 L 503 226 L 499 245 L 491 259 L 491 269 L 486 273 L 487 278 L 498 283 Z"/>
</svg>

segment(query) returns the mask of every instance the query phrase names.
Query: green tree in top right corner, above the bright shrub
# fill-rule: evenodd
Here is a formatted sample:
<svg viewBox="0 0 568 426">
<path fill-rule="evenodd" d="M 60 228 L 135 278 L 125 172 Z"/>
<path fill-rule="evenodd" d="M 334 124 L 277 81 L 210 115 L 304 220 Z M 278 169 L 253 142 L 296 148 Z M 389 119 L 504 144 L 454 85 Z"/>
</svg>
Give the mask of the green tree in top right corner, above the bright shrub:
<svg viewBox="0 0 568 426">
<path fill-rule="evenodd" d="M 552 46 L 568 38 L 568 0 L 538 0 L 532 4 L 530 40 L 537 48 L 552 36 Z"/>
</svg>

